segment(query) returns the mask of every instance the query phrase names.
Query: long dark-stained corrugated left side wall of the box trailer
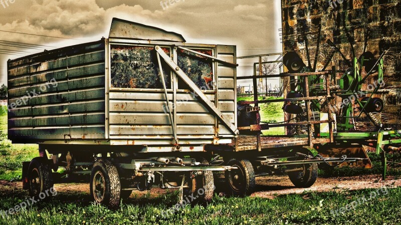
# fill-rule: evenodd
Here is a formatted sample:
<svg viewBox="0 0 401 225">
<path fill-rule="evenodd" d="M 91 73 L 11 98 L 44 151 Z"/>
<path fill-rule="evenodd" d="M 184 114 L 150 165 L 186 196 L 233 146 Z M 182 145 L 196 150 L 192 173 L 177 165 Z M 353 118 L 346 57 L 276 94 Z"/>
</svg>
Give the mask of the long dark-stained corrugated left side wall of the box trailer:
<svg viewBox="0 0 401 225">
<path fill-rule="evenodd" d="M 104 40 L 18 58 L 8 66 L 13 142 L 105 138 Z"/>
</svg>

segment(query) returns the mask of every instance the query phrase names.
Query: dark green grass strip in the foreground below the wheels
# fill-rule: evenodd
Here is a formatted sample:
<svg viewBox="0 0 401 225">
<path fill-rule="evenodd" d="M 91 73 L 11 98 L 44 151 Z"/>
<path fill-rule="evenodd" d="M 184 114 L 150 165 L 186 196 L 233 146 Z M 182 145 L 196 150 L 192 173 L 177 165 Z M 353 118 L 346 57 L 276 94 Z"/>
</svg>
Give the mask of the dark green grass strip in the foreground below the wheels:
<svg viewBox="0 0 401 225">
<path fill-rule="evenodd" d="M 339 215 L 337 210 L 373 189 L 343 192 L 304 192 L 268 198 L 215 196 L 207 206 L 186 206 L 163 218 L 177 195 L 131 197 L 118 210 L 90 202 L 88 194 L 61 192 L 48 202 L 39 202 L 0 224 L 399 224 L 401 188 L 387 189 L 355 209 Z M 25 191 L 0 192 L 0 209 L 6 210 L 27 197 Z M 85 221 L 85 223 L 84 223 Z"/>
</svg>

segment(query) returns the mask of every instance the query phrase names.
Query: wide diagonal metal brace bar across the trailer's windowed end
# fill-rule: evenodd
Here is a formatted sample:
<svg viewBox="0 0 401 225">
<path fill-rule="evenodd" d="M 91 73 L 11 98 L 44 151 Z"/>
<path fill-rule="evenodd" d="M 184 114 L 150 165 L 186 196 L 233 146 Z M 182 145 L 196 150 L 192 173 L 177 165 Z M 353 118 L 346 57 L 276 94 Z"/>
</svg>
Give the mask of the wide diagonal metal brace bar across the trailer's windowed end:
<svg viewBox="0 0 401 225">
<path fill-rule="evenodd" d="M 179 76 L 181 79 L 188 84 L 189 88 L 203 101 L 207 104 L 207 106 L 220 118 L 220 120 L 234 133 L 238 134 L 239 130 L 237 127 L 231 123 L 230 119 L 227 118 L 221 112 L 214 103 L 212 103 L 208 97 L 196 86 L 194 82 L 179 68 L 177 64 L 168 56 L 164 51 L 159 47 L 155 46 L 154 49 L 158 52 L 158 54 L 164 59 L 164 61 L 171 67 L 171 69 Z"/>
</svg>

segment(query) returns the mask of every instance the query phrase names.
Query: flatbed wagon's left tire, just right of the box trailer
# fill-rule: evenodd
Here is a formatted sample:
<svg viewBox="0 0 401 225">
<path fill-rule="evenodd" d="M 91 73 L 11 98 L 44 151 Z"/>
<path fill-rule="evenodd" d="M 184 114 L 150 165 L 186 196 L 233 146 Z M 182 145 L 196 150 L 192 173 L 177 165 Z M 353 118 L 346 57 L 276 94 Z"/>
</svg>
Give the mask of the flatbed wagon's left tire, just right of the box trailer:
<svg viewBox="0 0 401 225">
<path fill-rule="evenodd" d="M 237 166 L 238 169 L 226 171 L 228 194 L 244 197 L 255 191 L 255 170 L 248 159 L 237 160 L 232 158 L 227 165 Z"/>
</svg>

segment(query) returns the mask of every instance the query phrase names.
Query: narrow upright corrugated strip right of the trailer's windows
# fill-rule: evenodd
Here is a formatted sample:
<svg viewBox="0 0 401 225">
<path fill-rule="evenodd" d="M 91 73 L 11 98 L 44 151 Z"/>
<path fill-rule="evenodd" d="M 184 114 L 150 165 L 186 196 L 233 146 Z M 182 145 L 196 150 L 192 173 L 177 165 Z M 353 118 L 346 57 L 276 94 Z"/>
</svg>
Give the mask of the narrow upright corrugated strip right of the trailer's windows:
<svg viewBox="0 0 401 225">
<path fill-rule="evenodd" d="M 237 63 L 236 47 L 232 45 L 218 45 L 217 57 L 228 62 Z M 237 124 L 237 68 L 217 63 L 219 109 Z M 219 135 L 231 136 L 232 132 L 219 123 Z"/>
</svg>

